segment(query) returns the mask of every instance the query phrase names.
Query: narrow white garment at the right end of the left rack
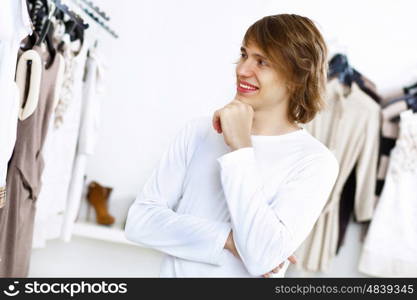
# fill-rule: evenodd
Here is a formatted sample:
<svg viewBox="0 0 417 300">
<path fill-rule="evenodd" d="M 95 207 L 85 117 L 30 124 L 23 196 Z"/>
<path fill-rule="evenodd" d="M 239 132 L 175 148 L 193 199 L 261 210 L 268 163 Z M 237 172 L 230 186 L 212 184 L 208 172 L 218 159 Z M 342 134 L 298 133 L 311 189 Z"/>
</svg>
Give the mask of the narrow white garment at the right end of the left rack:
<svg viewBox="0 0 417 300">
<path fill-rule="evenodd" d="M 88 156 L 94 153 L 98 139 L 101 106 L 98 90 L 102 71 L 99 59 L 95 54 L 96 51 L 96 49 L 89 51 L 86 63 L 80 134 L 61 233 L 61 238 L 67 242 L 71 240 L 74 222 L 80 207 L 80 201 L 83 198 L 84 176 Z"/>
</svg>

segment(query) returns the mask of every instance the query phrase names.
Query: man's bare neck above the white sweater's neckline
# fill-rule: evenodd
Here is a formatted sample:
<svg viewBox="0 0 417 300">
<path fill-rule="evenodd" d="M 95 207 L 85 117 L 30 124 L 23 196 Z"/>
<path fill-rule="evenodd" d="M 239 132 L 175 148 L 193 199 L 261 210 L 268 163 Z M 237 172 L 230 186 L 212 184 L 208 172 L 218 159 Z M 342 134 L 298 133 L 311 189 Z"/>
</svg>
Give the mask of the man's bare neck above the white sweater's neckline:
<svg viewBox="0 0 417 300">
<path fill-rule="evenodd" d="M 255 111 L 252 135 L 281 135 L 300 129 L 296 124 L 288 121 L 285 110 L 259 110 Z"/>
</svg>

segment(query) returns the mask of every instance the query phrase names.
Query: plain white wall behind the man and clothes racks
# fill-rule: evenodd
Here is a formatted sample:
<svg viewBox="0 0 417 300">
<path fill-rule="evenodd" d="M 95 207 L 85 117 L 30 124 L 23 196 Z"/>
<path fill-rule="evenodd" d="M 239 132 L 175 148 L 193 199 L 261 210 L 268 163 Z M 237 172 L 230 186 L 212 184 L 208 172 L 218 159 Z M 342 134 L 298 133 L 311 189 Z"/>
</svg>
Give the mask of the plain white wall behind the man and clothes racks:
<svg viewBox="0 0 417 300">
<path fill-rule="evenodd" d="M 97 153 L 89 162 L 88 177 L 114 187 L 113 207 L 121 202 L 125 206 L 134 199 L 173 135 L 187 120 L 210 115 L 232 99 L 233 62 L 238 58 L 241 39 L 246 28 L 264 15 L 297 13 L 312 18 L 331 49 L 345 50 L 351 64 L 383 93 L 417 79 L 417 39 L 413 37 L 416 5 L 411 0 L 337 4 L 325 0 L 95 3 L 111 15 L 110 24 L 120 39 L 100 34 L 107 65 L 107 91 L 103 97 L 101 137 Z M 350 227 L 341 254 L 325 275 L 361 276 L 356 271 L 359 230 L 357 225 Z M 90 242 L 75 239 L 71 246 L 56 242 L 34 251 L 31 275 L 66 276 L 73 274 L 74 263 L 84 266 L 82 270 L 89 276 L 108 274 L 106 264 L 95 266 L 96 273 L 89 269 L 89 255 L 82 252 L 86 243 L 91 246 Z M 45 264 L 54 264 L 51 257 L 62 258 L 67 247 L 77 256 L 61 259 L 59 270 L 41 269 Z M 105 242 L 96 247 L 106 247 L 107 252 L 101 255 L 103 261 L 108 251 L 119 253 L 122 249 L 125 250 L 120 256 L 138 262 L 146 255 L 154 255 Z M 117 256 L 113 259 L 121 269 L 129 261 L 118 261 Z M 155 263 L 154 267 L 148 266 L 148 273 L 137 275 L 152 276 L 158 267 Z M 127 272 L 129 275 L 132 273 Z"/>
</svg>

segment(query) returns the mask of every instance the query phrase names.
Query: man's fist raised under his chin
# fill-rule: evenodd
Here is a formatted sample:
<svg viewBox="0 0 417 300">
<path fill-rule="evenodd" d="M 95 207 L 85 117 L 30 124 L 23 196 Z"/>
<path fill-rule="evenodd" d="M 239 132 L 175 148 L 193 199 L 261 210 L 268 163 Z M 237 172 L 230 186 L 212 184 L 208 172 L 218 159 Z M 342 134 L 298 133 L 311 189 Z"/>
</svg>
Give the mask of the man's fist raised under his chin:
<svg viewBox="0 0 417 300">
<path fill-rule="evenodd" d="M 253 114 L 252 106 L 238 99 L 214 112 L 213 127 L 218 133 L 223 133 L 224 141 L 232 151 L 252 146 Z"/>
</svg>

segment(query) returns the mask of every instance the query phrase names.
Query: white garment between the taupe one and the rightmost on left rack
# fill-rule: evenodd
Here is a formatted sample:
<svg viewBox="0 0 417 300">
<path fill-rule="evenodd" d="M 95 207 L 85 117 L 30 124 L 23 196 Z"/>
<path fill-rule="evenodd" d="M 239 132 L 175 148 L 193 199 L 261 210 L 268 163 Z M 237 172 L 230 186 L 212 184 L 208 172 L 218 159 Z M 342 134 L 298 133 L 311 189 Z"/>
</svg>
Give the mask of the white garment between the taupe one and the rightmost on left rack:
<svg viewBox="0 0 417 300">
<path fill-rule="evenodd" d="M 43 186 L 37 202 L 33 234 L 34 248 L 42 248 L 46 240 L 59 238 L 61 235 L 77 148 L 82 111 L 82 84 L 88 46 L 86 40 L 82 45 L 77 40 L 69 47 L 77 51 L 72 59 L 70 69 L 72 74 L 66 77 L 71 78 L 72 82 L 71 99 L 66 107 L 62 124 L 56 127 L 52 121 L 49 125 L 48 137 L 42 150 L 45 157 L 45 169 L 42 174 Z M 65 69 L 65 72 L 68 72 L 68 69 Z M 62 89 L 60 97 L 62 93 L 68 92 L 65 84 Z M 55 112 L 56 109 L 52 116 L 53 120 L 55 120 Z"/>
</svg>

